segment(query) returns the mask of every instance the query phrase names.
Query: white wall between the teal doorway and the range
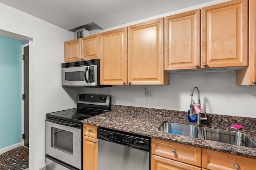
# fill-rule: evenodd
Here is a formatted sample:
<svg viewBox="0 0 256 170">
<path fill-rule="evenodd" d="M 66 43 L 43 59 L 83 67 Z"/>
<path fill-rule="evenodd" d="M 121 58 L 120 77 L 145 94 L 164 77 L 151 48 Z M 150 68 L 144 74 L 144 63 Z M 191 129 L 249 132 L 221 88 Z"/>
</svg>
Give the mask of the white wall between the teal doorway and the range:
<svg viewBox="0 0 256 170">
<path fill-rule="evenodd" d="M 76 89 L 61 87 L 64 41 L 74 33 L 0 3 L 0 29 L 29 37 L 29 169 L 45 166 L 45 114 L 76 107 Z M 12 134 L 10 134 L 12 135 Z"/>
</svg>

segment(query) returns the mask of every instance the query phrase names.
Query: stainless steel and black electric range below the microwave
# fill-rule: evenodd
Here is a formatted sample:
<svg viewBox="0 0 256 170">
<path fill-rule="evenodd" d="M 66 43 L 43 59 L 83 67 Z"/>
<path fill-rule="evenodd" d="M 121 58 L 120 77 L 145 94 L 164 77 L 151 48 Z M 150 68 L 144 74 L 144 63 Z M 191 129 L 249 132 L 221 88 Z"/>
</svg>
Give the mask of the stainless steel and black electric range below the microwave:
<svg viewBox="0 0 256 170">
<path fill-rule="evenodd" d="M 111 96 L 79 94 L 77 108 L 46 114 L 46 170 L 82 170 L 81 120 L 111 110 Z"/>
</svg>

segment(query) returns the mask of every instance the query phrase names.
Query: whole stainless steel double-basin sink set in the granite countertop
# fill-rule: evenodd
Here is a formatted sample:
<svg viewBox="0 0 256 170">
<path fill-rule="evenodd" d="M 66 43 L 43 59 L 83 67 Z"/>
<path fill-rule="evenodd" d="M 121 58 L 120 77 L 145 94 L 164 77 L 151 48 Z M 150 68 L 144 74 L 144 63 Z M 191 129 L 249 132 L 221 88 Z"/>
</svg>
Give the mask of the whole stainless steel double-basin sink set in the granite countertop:
<svg viewBox="0 0 256 170">
<path fill-rule="evenodd" d="M 226 131 L 209 127 L 198 127 L 180 123 L 163 122 L 158 128 L 159 131 L 184 135 L 188 137 L 201 138 L 222 143 L 229 143 L 238 146 L 256 148 L 256 143 L 246 134 L 236 131 Z"/>
</svg>

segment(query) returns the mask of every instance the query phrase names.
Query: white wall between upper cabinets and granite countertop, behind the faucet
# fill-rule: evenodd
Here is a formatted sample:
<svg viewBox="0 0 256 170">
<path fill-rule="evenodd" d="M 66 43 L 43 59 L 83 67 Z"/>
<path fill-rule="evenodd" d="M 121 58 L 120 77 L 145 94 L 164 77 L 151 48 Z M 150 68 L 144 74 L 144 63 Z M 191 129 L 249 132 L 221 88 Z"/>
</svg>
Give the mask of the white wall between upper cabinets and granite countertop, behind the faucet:
<svg viewBox="0 0 256 170">
<path fill-rule="evenodd" d="M 112 104 L 188 111 L 191 88 L 200 90 L 204 111 L 220 115 L 254 117 L 256 86 L 237 86 L 236 71 L 220 73 L 170 74 L 169 86 L 112 86 L 81 88 L 80 93 L 112 95 Z M 145 87 L 154 100 L 145 100 Z M 197 102 L 195 90 L 193 99 Z"/>
</svg>

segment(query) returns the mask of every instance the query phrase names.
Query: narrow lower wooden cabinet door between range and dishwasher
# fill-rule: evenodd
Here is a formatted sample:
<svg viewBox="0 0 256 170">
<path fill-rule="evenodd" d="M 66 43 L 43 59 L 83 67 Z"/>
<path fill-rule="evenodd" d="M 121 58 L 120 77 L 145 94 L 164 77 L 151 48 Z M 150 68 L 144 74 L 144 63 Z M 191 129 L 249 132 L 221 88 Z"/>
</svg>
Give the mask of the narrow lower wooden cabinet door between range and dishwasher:
<svg viewBox="0 0 256 170">
<path fill-rule="evenodd" d="M 83 136 L 83 170 L 98 169 L 98 139 Z"/>
</svg>

